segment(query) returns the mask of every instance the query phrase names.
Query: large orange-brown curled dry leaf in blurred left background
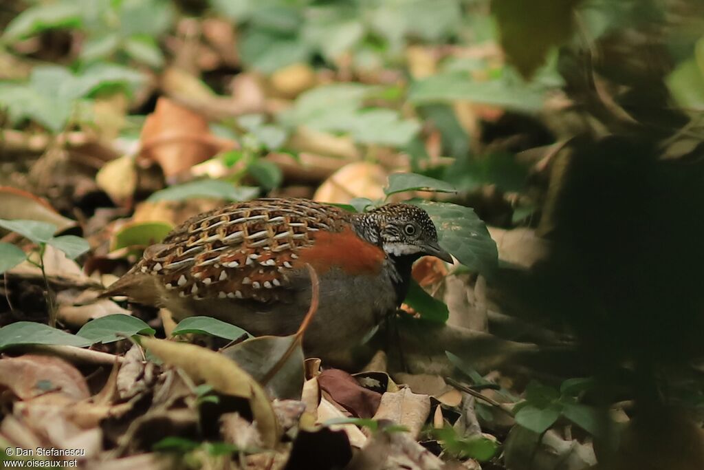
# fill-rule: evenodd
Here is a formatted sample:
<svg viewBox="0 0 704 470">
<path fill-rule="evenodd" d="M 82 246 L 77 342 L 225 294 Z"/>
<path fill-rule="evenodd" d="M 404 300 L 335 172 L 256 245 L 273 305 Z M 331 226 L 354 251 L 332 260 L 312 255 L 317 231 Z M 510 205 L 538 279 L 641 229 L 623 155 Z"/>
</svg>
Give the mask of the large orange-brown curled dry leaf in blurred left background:
<svg viewBox="0 0 704 470">
<path fill-rule="evenodd" d="M 234 148 L 234 142 L 210 133 L 203 116 L 163 97 L 146 118 L 140 140 L 140 158 L 158 162 L 167 178 Z"/>
</svg>

